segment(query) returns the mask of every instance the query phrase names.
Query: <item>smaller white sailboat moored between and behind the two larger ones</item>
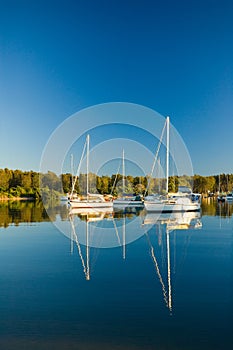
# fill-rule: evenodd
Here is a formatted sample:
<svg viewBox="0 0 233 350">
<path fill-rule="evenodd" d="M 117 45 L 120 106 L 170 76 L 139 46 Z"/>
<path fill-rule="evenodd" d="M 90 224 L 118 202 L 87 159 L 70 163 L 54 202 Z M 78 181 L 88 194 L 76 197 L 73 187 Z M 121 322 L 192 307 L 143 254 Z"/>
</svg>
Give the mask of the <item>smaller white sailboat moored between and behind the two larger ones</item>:
<svg viewBox="0 0 233 350">
<path fill-rule="evenodd" d="M 122 151 L 122 197 L 113 200 L 113 207 L 125 209 L 128 207 L 143 207 L 143 201 L 140 196 L 125 194 L 125 152 Z"/>
</svg>

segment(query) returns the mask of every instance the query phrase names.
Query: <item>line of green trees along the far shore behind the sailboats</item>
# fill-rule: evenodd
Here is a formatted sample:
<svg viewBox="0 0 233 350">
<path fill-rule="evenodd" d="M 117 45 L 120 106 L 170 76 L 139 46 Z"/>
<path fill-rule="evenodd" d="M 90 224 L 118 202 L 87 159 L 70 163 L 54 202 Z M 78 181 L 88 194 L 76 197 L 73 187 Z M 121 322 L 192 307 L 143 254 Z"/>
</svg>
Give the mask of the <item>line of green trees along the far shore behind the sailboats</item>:
<svg viewBox="0 0 233 350">
<path fill-rule="evenodd" d="M 57 196 L 61 193 L 71 193 L 72 187 L 77 194 L 86 191 L 86 174 L 80 174 L 75 182 L 70 173 L 57 175 L 52 171 L 45 174 L 34 171 L 0 169 L 0 198 L 33 198 L 51 197 L 51 191 Z M 88 188 L 90 193 L 112 194 L 123 193 L 122 175 L 98 176 L 89 173 Z M 166 180 L 150 178 L 149 176 L 127 175 L 124 179 L 124 192 L 134 194 L 163 193 Z M 202 194 L 228 192 L 233 189 L 233 174 L 213 176 L 170 176 L 169 192 L 177 192 L 178 186 L 190 186 L 194 192 Z"/>
</svg>

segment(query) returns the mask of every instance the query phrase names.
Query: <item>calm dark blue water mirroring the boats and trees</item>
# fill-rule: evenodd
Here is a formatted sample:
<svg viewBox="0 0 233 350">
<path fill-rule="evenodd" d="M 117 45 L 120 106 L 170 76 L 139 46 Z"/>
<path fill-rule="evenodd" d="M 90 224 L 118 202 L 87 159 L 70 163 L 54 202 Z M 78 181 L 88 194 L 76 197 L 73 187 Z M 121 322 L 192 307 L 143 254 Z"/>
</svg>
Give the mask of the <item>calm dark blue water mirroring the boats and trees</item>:
<svg viewBox="0 0 233 350">
<path fill-rule="evenodd" d="M 0 348 L 230 349 L 232 211 L 48 217 L 1 204 Z"/>
</svg>

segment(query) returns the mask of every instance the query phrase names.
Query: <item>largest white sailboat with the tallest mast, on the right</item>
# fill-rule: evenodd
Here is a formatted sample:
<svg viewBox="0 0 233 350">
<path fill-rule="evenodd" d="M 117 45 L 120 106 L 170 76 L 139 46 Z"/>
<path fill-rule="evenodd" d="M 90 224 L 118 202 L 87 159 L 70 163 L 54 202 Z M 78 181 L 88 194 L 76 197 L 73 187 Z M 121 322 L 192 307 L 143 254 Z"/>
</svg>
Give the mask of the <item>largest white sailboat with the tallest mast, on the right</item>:
<svg viewBox="0 0 233 350">
<path fill-rule="evenodd" d="M 168 193 L 168 180 L 169 180 L 169 128 L 170 119 L 166 118 L 164 129 L 162 132 L 159 147 L 162 142 L 164 130 L 167 130 L 166 140 L 166 196 L 147 196 L 144 201 L 144 206 L 147 211 L 159 212 L 159 213 L 172 213 L 172 212 L 185 212 L 185 211 L 198 211 L 201 207 L 201 195 L 199 193 L 192 193 L 190 189 L 185 191 L 178 191 L 177 193 Z M 159 150 L 159 149 L 158 149 Z M 156 157 L 158 156 L 158 151 Z M 154 163 L 155 165 L 155 163 Z M 153 165 L 153 167 L 154 167 Z"/>
</svg>

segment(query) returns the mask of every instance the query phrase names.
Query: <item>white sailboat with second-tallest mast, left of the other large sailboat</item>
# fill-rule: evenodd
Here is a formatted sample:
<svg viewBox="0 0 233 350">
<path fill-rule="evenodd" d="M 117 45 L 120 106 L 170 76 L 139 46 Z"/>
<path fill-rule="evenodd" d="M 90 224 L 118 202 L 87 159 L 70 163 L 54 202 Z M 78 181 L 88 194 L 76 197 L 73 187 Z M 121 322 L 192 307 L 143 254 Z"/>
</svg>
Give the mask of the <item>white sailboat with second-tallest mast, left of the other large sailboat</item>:
<svg viewBox="0 0 233 350">
<path fill-rule="evenodd" d="M 78 167 L 77 175 L 75 177 L 75 180 L 72 186 L 72 192 L 71 192 L 69 204 L 71 208 L 96 209 L 96 210 L 110 209 L 112 208 L 113 204 L 110 201 L 106 201 L 103 195 L 89 193 L 89 147 L 90 147 L 90 136 L 87 135 L 86 143 L 84 145 L 83 154 Z M 86 170 L 87 170 L 86 195 L 77 197 L 77 196 L 74 196 L 74 188 L 75 188 L 75 183 L 77 181 L 77 177 L 78 177 L 85 148 L 86 148 Z"/>
</svg>

